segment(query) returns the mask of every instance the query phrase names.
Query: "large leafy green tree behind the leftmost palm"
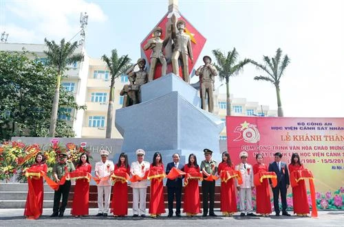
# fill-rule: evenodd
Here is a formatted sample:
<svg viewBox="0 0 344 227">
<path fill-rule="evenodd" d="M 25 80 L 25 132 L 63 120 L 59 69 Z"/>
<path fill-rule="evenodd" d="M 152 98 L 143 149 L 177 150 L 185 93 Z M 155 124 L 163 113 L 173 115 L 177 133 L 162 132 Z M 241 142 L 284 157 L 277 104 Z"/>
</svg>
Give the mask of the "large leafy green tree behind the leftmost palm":
<svg viewBox="0 0 344 227">
<path fill-rule="evenodd" d="M 0 139 L 48 136 L 56 70 L 31 53 L 0 51 Z M 61 105 L 79 109 L 72 93 L 61 88 Z M 60 115 L 69 115 L 59 110 Z M 66 121 L 57 121 L 56 136 L 74 136 Z"/>
</svg>

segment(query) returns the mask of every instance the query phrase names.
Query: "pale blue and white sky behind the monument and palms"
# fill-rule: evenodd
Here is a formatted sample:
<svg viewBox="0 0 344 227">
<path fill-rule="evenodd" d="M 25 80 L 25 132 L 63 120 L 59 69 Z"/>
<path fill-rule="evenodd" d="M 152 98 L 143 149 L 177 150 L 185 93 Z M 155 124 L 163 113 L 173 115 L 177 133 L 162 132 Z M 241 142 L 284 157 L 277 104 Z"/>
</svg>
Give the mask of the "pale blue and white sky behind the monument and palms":
<svg viewBox="0 0 344 227">
<path fill-rule="evenodd" d="M 166 14 L 168 3 L 1 0 L 0 32 L 9 34 L 8 43 L 43 44 L 44 38 L 76 41 L 80 12 L 87 12 L 87 54 L 100 58 L 117 49 L 136 62 L 140 43 Z M 278 48 L 283 56 L 288 54 L 290 64 L 280 84 L 285 117 L 344 117 L 344 1 L 179 0 L 178 5 L 207 39 L 201 56 L 213 57 L 213 49 L 227 52 L 235 47 L 241 60 L 263 63 L 263 56 L 275 56 Z M 202 63 L 199 58 L 196 67 Z M 275 86 L 253 80 L 257 75 L 266 74 L 247 65 L 230 78 L 230 93 L 277 110 Z M 220 84 L 217 81 L 215 86 Z M 219 89 L 226 93 L 225 86 Z"/>
</svg>

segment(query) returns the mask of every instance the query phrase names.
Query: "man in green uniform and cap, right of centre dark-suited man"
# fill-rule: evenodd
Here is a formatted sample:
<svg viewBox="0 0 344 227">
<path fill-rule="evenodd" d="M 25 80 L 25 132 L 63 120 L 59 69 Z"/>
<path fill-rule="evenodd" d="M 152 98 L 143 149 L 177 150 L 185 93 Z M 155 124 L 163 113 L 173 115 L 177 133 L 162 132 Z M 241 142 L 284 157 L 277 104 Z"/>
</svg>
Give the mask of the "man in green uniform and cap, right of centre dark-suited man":
<svg viewBox="0 0 344 227">
<path fill-rule="evenodd" d="M 201 171 L 203 178 L 207 178 L 211 174 L 217 174 L 217 162 L 211 159 L 213 152 L 209 149 L 204 149 L 205 160 L 202 160 Z M 209 216 L 216 217 L 214 213 L 214 197 L 215 197 L 215 180 L 202 181 L 202 193 L 203 193 L 203 217 L 208 215 L 208 197 L 209 197 Z"/>
</svg>

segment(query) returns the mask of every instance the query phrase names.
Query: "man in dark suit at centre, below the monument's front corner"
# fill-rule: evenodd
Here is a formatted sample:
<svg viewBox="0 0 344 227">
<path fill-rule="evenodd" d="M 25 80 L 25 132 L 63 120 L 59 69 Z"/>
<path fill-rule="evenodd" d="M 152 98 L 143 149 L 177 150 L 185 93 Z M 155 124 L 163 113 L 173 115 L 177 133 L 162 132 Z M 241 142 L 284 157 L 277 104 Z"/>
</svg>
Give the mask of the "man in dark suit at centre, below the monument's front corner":
<svg viewBox="0 0 344 227">
<path fill-rule="evenodd" d="M 180 157 L 178 153 L 173 154 L 173 162 L 167 164 L 166 166 L 166 175 L 169 174 L 173 167 L 177 169 L 182 169 L 184 165 L 179 163 Z M 182 176 L 178 176 L 175 180 L 167 179 L 166 187 L 167 194 L 169 197 L 169 215 L 167 217 L 172 217 L 173 215 L 173 199 L 175 196 L 175 216 L 181 217 L 180 207 L 181 207 L 181 198 L 182 198 Z"/>
</svg>

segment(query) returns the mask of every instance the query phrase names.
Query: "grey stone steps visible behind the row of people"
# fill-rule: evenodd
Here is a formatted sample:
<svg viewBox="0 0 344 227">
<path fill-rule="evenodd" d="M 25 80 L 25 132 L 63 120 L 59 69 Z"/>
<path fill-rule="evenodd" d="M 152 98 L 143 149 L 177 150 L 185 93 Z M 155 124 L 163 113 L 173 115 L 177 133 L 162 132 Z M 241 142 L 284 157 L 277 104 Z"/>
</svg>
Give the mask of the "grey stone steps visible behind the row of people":
<svg viewBox="0 0 344 227">
<path fill-rule="evenodd" d="M 215 208 L 219 208 L 220 204 L 220 195 L 219 195 L 220 187 L 215 187 Z M 111 189 L 112 192 L 112 189 Z M 0 184 L 0 208 L 25 208 L 26 197 L 28 194 L 28 184 L 21 184 L 21 183 L 5 183 Z M 184 190 L 182 191 L 182 198 L 183 198 Z M 69 192 L 68 204 L 67 208 L 72 206 L 74 196 L 74 185 Z M 112 196 L 112 193 L 111 193 Z M 89 187 L 89 208 L 97 208 L 97 187 L 96 185 L 90 185 Z M 147 188 L 147 204 L 146 207 L 149 207 L 149 187 Z M 50 187 L 45 184 L 44 185 L 44 202 L 43 208 L 52 208 L 54 203 L 54 191 L 50 189 Z M 200 200 L 201 200 L 201 207 L 202 207 L 202 187 L 200 187 Z M 129 208 L 132 208 L 132 201 L 133 201 L 133 193 L 131 187 L 128 187 L 128 205 Z M 165 208 L 168 207 L 167 202 L 167 188 L 164 187 L 164 204 Z M 111 204 L 110 204 L 111 206 Z M 183 202 L 182 202 L 183 207 Z"/>
</svg>

